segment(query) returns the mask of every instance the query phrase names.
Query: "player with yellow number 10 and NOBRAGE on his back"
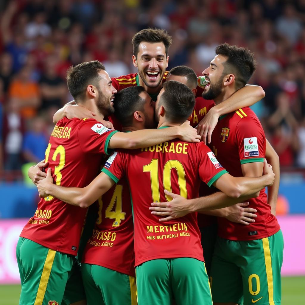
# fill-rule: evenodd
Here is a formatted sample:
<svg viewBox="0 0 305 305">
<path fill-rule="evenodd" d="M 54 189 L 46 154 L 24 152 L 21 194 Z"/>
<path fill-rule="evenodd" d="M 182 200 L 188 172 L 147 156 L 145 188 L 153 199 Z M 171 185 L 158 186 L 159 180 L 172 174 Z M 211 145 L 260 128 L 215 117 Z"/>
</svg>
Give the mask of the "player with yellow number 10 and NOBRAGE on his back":
<svg viewBox="0 0 305 305">
<path fill-rule="evenodd" d="M 189 88 L 167 82 L 156 102 L 158 127 L 181 124 L 194 104 L 195 96 Z M 188 198 L 197 197 L 199 177 L 232 197 L 250 196 L 272 184 L 274 174 L 267 166 L 265 170 L 259 178 L 234 178 L 203 142 L 192 145 L 176 139 L 130 153 L 114 152 L 102 173 L 85 188 L 54 185 L 48 169 L 38 190 L 40 196 L 53 194 L 67 203 L 87 207 L 126 174 L 134 213 L 138 303 L 170 304 L 174 295 L 177 304 L 212 304 L 196 214 L 160 226 L 158 219 L 148 213 L 149 202 L 165 199 L 161 192 L 164 188 L 180 190 Z"/>
</svg>

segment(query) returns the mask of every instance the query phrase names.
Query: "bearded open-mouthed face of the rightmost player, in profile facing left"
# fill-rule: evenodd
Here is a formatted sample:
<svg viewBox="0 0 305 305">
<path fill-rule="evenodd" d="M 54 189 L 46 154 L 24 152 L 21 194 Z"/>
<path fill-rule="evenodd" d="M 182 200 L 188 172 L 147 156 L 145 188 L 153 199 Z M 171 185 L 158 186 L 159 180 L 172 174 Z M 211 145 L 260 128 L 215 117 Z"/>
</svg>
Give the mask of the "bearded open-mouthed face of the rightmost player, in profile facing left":
<svg viewBox="0 0 305 305">
<path fill-rule="evenodd" d="M 202 93 L 204 99 L 215 99 L 221 94 L 224 88 L 224 63 L 226 58 L 222 55 L 216 55 L 202 74 L 210 84 L 207 84 Z"/>
</svg>

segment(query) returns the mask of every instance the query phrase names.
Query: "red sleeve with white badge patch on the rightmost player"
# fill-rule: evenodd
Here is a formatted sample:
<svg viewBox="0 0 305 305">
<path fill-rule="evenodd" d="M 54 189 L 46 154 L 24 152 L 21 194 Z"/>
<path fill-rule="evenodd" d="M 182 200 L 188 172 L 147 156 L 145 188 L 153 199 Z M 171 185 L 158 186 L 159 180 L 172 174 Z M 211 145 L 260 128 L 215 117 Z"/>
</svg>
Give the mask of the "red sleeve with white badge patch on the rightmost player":
<svg viewBox="0 0 305 305">
<path fill-rule="evenodd" d="M 240 164 L 264 162 L 266 138 L 257 118 L 248 116 L 238 122 L 235 144 L 239 150 Z"/>
</svg>

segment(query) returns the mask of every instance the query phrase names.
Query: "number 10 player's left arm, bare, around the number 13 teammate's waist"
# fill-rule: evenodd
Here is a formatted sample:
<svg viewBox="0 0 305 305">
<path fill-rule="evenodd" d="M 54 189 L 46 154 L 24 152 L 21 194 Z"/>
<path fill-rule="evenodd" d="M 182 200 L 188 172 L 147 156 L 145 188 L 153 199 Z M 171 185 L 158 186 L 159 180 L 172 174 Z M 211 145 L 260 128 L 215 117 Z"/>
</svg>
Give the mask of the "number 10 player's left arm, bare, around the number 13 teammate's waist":
<svg viewBox="0 0 305 305">
<path fill-rule="evenodd" d="M 45 179 L 38 182 L 39 197 L 51 195 L 74 206 L 86 208 L 106 193 L 115 182 L 105 173 L 100 173 L 84 188 L 66 188 L 53 183 L 51 168 L 48 168 Z"/>
</svg>

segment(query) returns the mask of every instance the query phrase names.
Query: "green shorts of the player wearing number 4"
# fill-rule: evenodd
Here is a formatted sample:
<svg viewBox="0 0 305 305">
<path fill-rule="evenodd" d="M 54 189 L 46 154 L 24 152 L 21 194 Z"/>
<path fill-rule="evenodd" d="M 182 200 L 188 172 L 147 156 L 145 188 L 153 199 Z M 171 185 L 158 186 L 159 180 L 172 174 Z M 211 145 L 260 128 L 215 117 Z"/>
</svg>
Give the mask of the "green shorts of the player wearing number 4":
<svg viewBox="0 0 305 305">
<path fill-rule="evenodd" d="M 82 264 L 87 305 L 137 305 L 135 278 L 102 266 Z"/>
</svg>

